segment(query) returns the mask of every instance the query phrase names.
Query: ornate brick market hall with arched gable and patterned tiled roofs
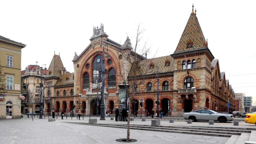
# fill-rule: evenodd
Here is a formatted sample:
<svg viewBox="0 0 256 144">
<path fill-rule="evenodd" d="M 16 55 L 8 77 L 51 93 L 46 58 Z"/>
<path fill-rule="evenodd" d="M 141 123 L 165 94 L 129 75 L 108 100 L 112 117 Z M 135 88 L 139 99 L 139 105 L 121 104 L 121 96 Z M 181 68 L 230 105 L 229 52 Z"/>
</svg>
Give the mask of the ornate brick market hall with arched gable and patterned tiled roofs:
<svg viewBox="0 0 256 144">
<path fill-rule="evenodd" d="M 146 80 L 143 85 L 136 87 L 141 95 L 134 99 L 135 101 L 143 99 L 142 114 L 145 114 L 145 110 L 150 111 L 156 107 L 157 68 L 159 107 L 163 108 L 165 115 L 182 116 L 184 112 L 205 107 L 212 110 L 217 108 L 218 112 L 227 112 L 228 101 L 230 109 L 235 110 L 233 89 L 226 80 L 225 72 L 220 72 L 218 59 L 214 59 L 208 48 L 208 42 L 195 12 L 192 10 L 174 53 L 143 60 L 143 63 L 148 65 L 148 68 L 141 67 L 142 73 L 146 74 Z M 96 114 L 97 86 L 99 95 L 99 87 L 101 87 L 103 48 L 106 52 L 104 57 L 105 69 L 107 69 L 104 87 L 105 110 L 112 111 L 118 106 L 118 85 L 123 82 L 118 76 L 119 70 L 130 69 L 125 65 L 125 59 L 118 51 L 129 49 L 130 45 L 127 45 L 129 38 L 120 45 L 108 38 L 104 26 L 101 25 L 100 28 L 93 28 L 90 41 L 91 43 L 79 56 L 75 53 L 72 60 L 74 64 L 72 74 L 65 74 L 60 57 L 54 55 L 45 77 L 45 80 L 51 84 L 48 97 L 45 99 L 51 96 L 52 108 L 57 112 L 61 110 L 69 112 L 72 104 L 75 103 L 77 106 L 75 112 L 80 108 L 86 115 Z M 134 55 L 137 54 L 132 53 L 131 56 Z M 144 86 L 146 89 L 140 89 Z M 132 106 L 132 114 L 133 110 L 134 106 Z M 135 104 L 135 111 L 137 110 L 138 103 Z"/>
</svg>

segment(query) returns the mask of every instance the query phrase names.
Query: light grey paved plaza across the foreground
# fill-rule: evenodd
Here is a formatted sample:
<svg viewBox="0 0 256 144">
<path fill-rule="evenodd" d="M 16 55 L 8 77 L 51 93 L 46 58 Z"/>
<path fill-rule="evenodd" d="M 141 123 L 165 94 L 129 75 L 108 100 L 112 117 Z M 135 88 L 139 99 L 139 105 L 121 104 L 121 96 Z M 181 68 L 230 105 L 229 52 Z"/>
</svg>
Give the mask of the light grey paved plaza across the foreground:
<svg viewBox="0 0 256 144">
<path fill-rule="evenodd" d="M 99 120 L 98 123 L 126 124 L 123 121 Z M 70 117 L 61 119 L 58 117 L 56 121 L 48 122 L 48 117 L 39 119 L 37 117 L 22 119 L 2 119 L 0 120 L 0 144 L 13 143 L 120 143 L 116 139 L 126 138 L 127 129 L 112 128 L 91 125 L 78 125 L 63 122 L 89 122 L 89 117 L 84 117 L 84 120 L 77 120 Z M 141 121 L 135 119 L 131 124 L 151 125 L 151 119 Z M 207 122 L 197 122 L 193 125 L 207 125 Z M 240 127 L 254 127 L 254 125 L 242 125 Z M 188 125 L 186 120 L 175 121 L 169 123 L 168 120 L 162 120 L 161 125 Z M 191 124 L 190 124 L 191 125 Z M 216 126 L 221 126 L 223 123 L 215 123 Z M 233 126 L 232 122 L 226 123 L 225 126 Z M 177 144 L 224 144 L 228 137 L 215 137 L 203 135 L 180 134 L 172 132 L 156 132 L 146 130 L 130 130 L 130 138 L 138 140 L 134 143 L 177 143 Z"/>
</svg>

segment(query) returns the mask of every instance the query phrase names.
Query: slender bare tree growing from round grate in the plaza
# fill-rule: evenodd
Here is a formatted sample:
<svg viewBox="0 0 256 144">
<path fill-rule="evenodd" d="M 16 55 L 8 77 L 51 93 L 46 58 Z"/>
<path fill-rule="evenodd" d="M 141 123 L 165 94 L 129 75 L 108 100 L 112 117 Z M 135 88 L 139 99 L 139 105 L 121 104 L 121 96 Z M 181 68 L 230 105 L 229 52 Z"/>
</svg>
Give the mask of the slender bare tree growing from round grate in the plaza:
<svg viewBox="0 0 256 144">
<path fill-rule="evenodd" d="M 140 95 L 147 88 L 144 80 L 145 75 L 148 74 L 149 62 L 146 59 L 146 55 L 150 52 L 150 47 L 147 47 L 146 42 L 144 45 L 140 45 L 142 40 L 142 34 L 145 31 L 144 28 L 140 28 L 140 25 L 137 25 L 137 35 L 136 42 L 133 46 L 129 37 L 127 37 L 122 48 L 118 50 L 118 55 L 123 57 L 119 59 L 119 69 L 118 77 L 122 79 L 126 88 L 126 94 L 129 98 L 129 114 L 127 120 L 127 139 L 129 142 L 130 139 L 130 120 L 131 120 L 131 109 L 133 99 Z M 121 67 L 121 65 L 123 67 Z M 139 87 L 137 87 L 139 86 Z"/>
</svg>

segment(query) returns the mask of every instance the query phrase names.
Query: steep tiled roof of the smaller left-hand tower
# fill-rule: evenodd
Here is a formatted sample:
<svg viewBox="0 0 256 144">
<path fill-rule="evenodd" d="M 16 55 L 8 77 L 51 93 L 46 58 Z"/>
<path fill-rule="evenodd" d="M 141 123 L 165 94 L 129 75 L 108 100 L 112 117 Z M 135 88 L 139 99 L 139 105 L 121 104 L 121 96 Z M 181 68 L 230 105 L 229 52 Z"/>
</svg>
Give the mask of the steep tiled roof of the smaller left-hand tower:
<svg viewBox="0 0 256 144">
<path fill-rule="evenodd" d="M 51 77 L 51 76 L 59 77 L 61 75 L 61 69 L 63 67 L 64 66 L 62 64 L 60 56 L 59 55 L 54 55 L 52 60 L 51 60 L 51 64 L 48 68 L 48 71 L 47 71 L 47 74 L 46 74 L 45 78 Z"/>
</svg>

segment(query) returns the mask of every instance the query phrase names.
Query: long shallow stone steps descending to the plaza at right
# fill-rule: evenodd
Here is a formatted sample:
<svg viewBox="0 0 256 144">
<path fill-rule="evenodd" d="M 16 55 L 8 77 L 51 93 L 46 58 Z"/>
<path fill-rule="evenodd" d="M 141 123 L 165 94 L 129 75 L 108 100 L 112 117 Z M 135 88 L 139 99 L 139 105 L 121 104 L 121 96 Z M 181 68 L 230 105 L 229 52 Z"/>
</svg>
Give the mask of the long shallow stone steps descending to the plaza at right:
<svg viewBox="0 0 256 144">
<path fill-rule="evenodd" d="M 126 124 L 107 124 L 107 123 L 83 123 L 83 122 L 64 122 L 69 124 L 103 126 L 113 128 L 127 128 Z M 184 125 L 136 125 L 130 124 L 130 129 L 149 130 L 160 132 L 185 133 L 192 135 L 205 135 L 217 137 L 229 137 L 225 144 L 244 144 L 246 141 L 256 140 L 256 128 L 245 127 L 218 127 L 218 126 L 184 126 Z M 251 143 L 248 143 L 251 144 Z"/>
</svg>

